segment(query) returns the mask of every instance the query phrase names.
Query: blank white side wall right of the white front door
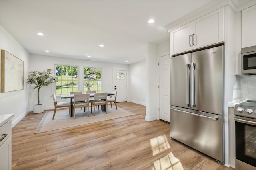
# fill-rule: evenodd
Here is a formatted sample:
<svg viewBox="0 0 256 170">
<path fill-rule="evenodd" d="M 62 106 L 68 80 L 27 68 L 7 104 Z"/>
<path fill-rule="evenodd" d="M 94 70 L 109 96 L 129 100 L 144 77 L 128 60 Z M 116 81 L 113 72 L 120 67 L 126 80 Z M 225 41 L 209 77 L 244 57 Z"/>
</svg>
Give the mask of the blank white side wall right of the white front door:
<svg viewBox="0 0 256 170">
<path fill-rule="evenodd" d="M 130 64 L 128 101 L 146 105 L 146 60 Z"/>
</svg>

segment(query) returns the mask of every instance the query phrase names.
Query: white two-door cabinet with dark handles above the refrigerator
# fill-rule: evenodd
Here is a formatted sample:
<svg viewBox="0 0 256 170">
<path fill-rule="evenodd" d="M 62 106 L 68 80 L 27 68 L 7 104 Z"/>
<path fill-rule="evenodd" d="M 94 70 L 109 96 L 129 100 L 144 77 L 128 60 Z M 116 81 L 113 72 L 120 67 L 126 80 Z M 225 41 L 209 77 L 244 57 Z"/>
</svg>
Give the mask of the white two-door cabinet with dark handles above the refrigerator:
<svg viewBox="0 0 256 170">
<path fill-rule="evenodd" d="M 224 42 L 224 8 L 219 8 L 170 32 L 170 53 Z"/>
</svg>

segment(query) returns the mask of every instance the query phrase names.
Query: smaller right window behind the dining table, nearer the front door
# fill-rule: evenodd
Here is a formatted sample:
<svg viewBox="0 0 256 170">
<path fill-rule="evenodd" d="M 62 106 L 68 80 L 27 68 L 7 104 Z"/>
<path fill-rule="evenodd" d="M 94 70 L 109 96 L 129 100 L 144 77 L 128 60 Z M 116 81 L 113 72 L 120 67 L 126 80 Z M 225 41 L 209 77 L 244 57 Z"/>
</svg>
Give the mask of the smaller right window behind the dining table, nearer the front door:
<svg viewBox="0 0 256 170">
<path fill-rule="evenodd" d="M 84 67 L 84 93 L 89 88 L 91 91 L 101 91 L 101 68 Z M 88 87 L 86 85 L 88 84 Z"/>
</svg>

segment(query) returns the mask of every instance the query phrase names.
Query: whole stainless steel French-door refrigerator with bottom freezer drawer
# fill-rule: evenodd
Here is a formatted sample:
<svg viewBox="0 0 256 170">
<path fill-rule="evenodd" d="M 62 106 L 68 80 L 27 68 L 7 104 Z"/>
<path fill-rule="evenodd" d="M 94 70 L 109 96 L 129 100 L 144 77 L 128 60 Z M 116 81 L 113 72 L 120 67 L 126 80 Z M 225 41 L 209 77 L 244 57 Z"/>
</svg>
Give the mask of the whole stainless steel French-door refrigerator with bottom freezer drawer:
<svg viewBox="0 0 256 170">
<path fill-rule="evenodd" d="M 224 46 L 170 58 L 170 137 L 224 163 Z"/>
</svg>

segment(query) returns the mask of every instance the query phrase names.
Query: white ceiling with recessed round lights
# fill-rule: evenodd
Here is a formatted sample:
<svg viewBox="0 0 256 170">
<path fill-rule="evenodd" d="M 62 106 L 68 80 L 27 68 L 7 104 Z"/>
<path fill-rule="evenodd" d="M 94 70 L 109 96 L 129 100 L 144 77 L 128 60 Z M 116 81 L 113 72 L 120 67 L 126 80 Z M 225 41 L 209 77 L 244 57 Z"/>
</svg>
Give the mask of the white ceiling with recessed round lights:
<svg viewBox="0 0 256 170">
<path fill-rule="evenodd" d="M 131 64 L 169 39 L 166 25 L 211 1 L 0 0 L 0 25 L 30 54 Z"/>
</svg>

